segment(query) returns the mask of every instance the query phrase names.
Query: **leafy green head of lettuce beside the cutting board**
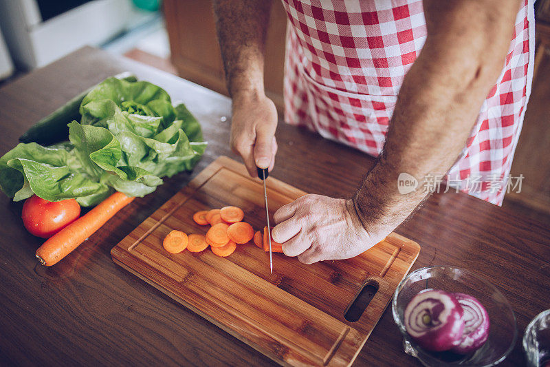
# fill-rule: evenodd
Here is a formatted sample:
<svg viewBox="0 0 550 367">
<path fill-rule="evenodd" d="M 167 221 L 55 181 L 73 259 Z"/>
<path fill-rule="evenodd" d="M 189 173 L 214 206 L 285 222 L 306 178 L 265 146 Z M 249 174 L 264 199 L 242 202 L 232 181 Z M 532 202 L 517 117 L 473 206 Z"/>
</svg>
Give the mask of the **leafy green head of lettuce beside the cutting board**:
<svg viewBox="0 0 550 367">
<path fill-rule="evenodd" d="M 69 141 L 20 143 L 0 158 L 0 187 L 14 201 L 33 194 L 97 205 L 113 191 L 145 196 L 164 176 L 190 170 L 206 143 L 183 104 L 146 81 L 107 78 L 80 103 Z"/>
</svg>

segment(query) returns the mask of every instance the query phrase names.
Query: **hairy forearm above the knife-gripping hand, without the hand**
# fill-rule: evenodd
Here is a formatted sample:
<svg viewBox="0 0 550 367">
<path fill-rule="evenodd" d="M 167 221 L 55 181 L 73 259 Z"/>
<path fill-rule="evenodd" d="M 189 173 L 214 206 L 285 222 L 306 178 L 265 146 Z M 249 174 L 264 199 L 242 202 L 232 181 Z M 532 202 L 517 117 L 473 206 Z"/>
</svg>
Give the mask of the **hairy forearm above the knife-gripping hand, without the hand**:
<svg viewBox="0 0 550 367">
<path fill-rule="evenodd" d="M 214 0 L 230 96 L 263 94 L 263 55 L 271 0 Z"/>
</svg>

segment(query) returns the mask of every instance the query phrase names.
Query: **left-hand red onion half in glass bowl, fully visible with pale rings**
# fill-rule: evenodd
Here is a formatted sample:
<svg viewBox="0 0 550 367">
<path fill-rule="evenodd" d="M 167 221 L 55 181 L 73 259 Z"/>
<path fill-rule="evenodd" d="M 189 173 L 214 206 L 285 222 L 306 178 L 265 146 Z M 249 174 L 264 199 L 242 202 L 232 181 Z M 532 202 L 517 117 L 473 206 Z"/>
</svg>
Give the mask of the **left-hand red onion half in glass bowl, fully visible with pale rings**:
<svg viewBox="0 0 550 367">
<path fill-rule="evenodd" d="M 425 289 L 405 308 L 405 328 L 426 350 L 442 352 L 460 343 L 464 322 L 463 310 L 452 293 Z"/>
</svg>

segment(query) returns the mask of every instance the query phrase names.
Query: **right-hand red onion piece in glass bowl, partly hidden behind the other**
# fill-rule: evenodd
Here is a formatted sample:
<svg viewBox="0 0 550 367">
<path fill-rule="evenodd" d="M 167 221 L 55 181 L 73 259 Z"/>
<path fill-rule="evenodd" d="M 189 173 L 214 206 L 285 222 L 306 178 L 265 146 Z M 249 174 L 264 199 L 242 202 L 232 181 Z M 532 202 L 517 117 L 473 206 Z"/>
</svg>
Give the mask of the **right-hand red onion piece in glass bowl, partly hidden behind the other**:
<svg viewBox="0 0 550 367">
<path fill-rule="evenodd" d="M 480 348 L 489 337 L 489 315 L 483 305 L 471 295 L 454 293 L 464 311 L 464 331 L 460 344 L 451 348 L 454 353 L 467 354 Z"/>
</svg>

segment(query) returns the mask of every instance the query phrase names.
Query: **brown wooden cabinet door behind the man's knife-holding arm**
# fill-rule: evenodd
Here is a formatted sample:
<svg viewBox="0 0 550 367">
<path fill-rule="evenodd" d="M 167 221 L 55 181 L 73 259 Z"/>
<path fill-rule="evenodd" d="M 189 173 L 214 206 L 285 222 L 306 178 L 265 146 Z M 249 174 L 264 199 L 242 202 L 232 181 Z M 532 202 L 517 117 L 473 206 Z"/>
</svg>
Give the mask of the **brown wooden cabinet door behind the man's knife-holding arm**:
<svg viewBox="0 0 550 367">
<path fill-rule="evenodd" d="M 164 0 L 171 59 L 179 76 L 228 95 L 211 1 Z M 265 45 L 265 91 L 283 111 L 287 14 L 273 1 Z"/>
</svg>

